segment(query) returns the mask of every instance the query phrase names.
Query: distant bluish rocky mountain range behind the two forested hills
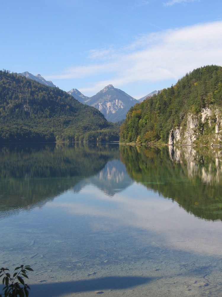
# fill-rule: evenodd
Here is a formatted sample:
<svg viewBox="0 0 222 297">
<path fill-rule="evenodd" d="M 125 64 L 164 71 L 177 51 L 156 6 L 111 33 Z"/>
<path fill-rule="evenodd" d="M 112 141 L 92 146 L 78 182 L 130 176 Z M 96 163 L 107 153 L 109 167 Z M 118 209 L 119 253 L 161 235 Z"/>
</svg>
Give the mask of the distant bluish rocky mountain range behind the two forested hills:
<svg viewBox="0 0 222 297">
<path fill-rule="evenodd" d="M 46 81 L 40 74 L 33 75 L 26 71 L 18 73 L 18 75 L 36 80 L 45 86 L 56 87 L 52 81 Z M 105 86 L 104 89 L 92 97 L 83 95 L 78 89 L 71 89 L 67 93 L 73 96 L 79 102 L 97 108 L 108 121 L 115 123 L 124 120 L 126 118 L 127 112 L 132 106 L 138 102 L 142 102 L 147 97 L 151 97 L 153 94 L 156 94 L 157 91 L 155 90 L 152 93 L 140 98 L 139 100 L 136 100 L 120 89 L 114 88 L 114 86 L 111 84 Z"/>
</svg>

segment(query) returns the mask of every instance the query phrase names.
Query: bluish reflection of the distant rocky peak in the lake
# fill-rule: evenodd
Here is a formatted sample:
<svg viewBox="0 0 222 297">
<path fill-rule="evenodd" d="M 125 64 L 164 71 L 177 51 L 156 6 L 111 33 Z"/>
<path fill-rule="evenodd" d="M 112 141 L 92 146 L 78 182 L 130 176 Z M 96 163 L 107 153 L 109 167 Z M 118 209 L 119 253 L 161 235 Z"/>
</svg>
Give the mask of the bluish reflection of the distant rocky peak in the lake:
<svg viewBox="0 0 222 297">
<path fill-rule="evenodd" d="M 87 184 L 93 184 L 109 196 L 121 192 L 132 184 L 132 179 L 126 172 L 126 167 L 119 160 L 109 161 L 95 176 L 80 181 L 73 187 L 74 192 L 79 192 Z"/>
</svg>

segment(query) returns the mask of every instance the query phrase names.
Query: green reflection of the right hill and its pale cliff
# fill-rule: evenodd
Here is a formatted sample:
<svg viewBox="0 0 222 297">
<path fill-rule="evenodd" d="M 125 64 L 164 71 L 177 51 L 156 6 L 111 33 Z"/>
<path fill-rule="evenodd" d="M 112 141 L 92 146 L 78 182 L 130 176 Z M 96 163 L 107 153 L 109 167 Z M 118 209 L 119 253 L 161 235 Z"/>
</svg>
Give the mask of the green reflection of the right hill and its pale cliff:
<svg viewBox="0 0 222 297">
<path fill-rule="evenodd" d="M 170 149 L 170 155 L 169 155 Z M 221 152 L 216 148 L 120 146 L 129 176 L 204 219 L 222 220 Z"/>
</svg>

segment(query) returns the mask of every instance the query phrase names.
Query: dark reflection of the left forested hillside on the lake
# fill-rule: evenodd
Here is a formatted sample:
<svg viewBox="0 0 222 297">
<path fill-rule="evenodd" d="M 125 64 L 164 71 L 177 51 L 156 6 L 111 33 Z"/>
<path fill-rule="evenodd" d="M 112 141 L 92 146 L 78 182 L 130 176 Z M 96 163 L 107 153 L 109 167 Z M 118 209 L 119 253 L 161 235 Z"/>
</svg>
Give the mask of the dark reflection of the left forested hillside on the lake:
<svg viewBox="0 0 222 297">
<path fill-rule="evenodd" d="M 41 207 L 119 157 L 118 145 L 48 145 L 0 148 L 0 218 Z"/>
</svg>

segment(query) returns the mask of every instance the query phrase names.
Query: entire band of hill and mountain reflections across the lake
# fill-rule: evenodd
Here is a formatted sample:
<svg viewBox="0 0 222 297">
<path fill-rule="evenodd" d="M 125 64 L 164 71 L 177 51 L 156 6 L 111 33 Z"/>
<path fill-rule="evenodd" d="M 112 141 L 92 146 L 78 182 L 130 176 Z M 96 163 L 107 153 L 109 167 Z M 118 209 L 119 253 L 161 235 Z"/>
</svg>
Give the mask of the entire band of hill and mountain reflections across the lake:
<svg viewBox="0 0 222 297">
<path fill-rule="evenodd" d="M 0 156 L 0 218 L 87 184 L 113 196 L 134 180 L 197 217 L 222 220 L 218 148 L 120 146 L 119 156 L 118 145 L 78 143 L 2 147 Z"/>
</svg>

